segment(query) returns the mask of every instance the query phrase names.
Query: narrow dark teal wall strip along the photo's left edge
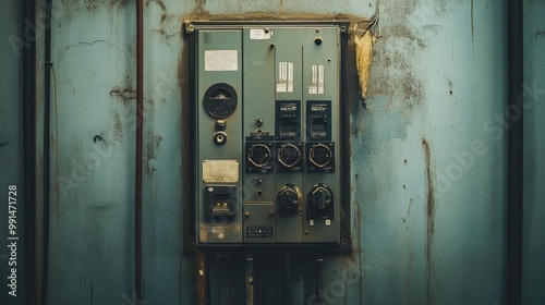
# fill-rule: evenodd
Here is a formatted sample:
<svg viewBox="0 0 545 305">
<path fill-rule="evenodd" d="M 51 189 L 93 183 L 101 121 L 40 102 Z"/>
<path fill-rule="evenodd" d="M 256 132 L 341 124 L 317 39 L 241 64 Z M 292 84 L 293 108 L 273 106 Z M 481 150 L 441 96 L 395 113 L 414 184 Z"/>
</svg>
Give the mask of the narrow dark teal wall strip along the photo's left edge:
<svg viewBox="0 0 545 305">
<path fill-rule="evenodd" d="M 23 124 L 21 113 L 23 110 L 22 99 L 22 50 L 26 40 L 24 39 L 22 24 L 23 10 L 17 5 L 16 0 L 2 2 L 0 9 L 0 192 L 2 199 L 0 204 L 0 303 L 1 304 L 24 304 L 25 281 L 24 281 L 24 196 L 23 196 Z M 15 185 L 16 196 L 8 194 L 9 186 Z M 15 200 L 9 200 L 9 196 Z M 9 202 L 15 209 L 16 235 L 9 234 L 8 229 L 10 213 Z M 19 241 L 8 241 L 8 237 L 19 237 Z M 16 242 L 16 256 L 12 256 L 12 251 L 8 247 L 11 242 Z M 16 260 L 9 260 L 15 257 Z M 11 261 L 11 265 L 10 265 Z M 15 261 L 16 265 L 13 265 Z M 12 268 L 16 268 L 16 296 L 9 295 L 12 291 L 8 288 L 13 278 Z M 10 302 L 10 303 L 8 303 Z"/>
</svg>

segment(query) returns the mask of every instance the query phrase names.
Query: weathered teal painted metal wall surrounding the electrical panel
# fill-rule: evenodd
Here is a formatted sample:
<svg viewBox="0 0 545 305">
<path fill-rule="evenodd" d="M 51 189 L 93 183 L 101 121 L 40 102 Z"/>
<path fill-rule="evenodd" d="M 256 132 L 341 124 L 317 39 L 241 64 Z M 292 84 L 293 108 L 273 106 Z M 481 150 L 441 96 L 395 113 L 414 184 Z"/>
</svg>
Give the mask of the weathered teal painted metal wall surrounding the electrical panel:
<svg viewBox="0 0 545 305">
<path fill-rule="evenodd" d="M 182 256 L 181 237 L 182 102 L 189 82 L 181 21 L 254 12 L 368 17 L 376 10 L 383 37 L 374 48 L 366 110 L 358 98 L 353 54 L 349 58 L 353 252 L 325 257 L 327 304 L 505 303 L 507 129 L 498 123 L 507 95 L 504 3 L 149 0 L 146 304 L 195 302 L 194 258 Z M 525 83 L 536 88 L 545 88 L 543 12 L 543 1 L 526 1 Z M 17 19 L 9 20 L 5 33 L 15 32 Z M 51 26 L 48 304 L 135 304 L 135 5 L 53 0 Z M 2 61 L 9 52 L 3 46 Z M 3 66 L 17 71 L 14 63 Z M 4 96 L 11 102 L 20 93 L 3 80 L 1 107 L 16 106 L 4 102 Z M 534 96 L 540 102 L 526 110 L 524 122 L 528 304 L 544 297 L 545 194 L 538 185 L 545 183 L 545 115 L 543 96 Z M 41 109 L 41 98 L 38 103 Z M 10 131 L 7 135 L 16 132 Z M 7 148 L 0 147 L 2 173 L 21 173 L 3 161 L 12 154 Z M 267 284 L 262 300 L 277 304 L 282 261 L 265 258 L 272 259 L 256 257 L 258 268 L 270 272 L 262 279 Z M 301 254 L 293 265 L 293 304 L 314 304 L 314 263 Z M 209 258 L 211 304 L 240 304 L 243 268 L 241 259 Z"/>
</svg>

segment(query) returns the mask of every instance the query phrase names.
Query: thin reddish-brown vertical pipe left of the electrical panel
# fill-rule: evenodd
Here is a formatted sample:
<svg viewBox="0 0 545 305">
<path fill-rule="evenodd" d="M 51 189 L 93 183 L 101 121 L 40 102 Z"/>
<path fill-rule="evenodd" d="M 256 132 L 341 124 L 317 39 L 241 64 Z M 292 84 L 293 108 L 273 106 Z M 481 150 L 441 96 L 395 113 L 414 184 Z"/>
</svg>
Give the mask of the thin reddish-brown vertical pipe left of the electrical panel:
<svg viewBox="0 0 545 305">
<path fill-rule="evenodd" d="M 134 184 L 134 251 L 136 300 L 142 291 L 142 156 L 144 142 L 144 3 L 136 1 L 136 173 Z"/>
</svg>

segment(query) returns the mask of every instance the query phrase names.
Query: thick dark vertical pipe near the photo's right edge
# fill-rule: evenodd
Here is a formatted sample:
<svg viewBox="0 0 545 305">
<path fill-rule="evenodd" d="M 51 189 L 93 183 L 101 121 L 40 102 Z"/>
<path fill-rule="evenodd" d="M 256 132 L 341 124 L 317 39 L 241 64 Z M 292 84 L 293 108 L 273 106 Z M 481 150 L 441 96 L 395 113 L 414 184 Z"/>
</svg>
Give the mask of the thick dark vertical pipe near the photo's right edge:
<svg viewBox="0 0 545 305">
<path fill-rule="evenodd" d="M 507 1 L 508 113 L 507 139 L 507 304 L 522 304 L 522 209 L 523 209 L 523 1 Z"/>
</svg>

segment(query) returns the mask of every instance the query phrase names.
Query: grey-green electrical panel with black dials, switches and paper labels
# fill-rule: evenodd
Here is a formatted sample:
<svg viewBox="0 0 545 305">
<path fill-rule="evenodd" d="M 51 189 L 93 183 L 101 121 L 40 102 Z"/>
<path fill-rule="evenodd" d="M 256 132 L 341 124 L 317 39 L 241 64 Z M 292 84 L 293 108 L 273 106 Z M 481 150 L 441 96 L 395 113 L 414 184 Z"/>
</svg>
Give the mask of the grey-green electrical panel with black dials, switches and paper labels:
<svg viewBox="0 0 545 305">
<path fill-rule="evenodd" d="M 192 30 L 197 245 L 339 244 L 339 25 Z"/>
</svg>

